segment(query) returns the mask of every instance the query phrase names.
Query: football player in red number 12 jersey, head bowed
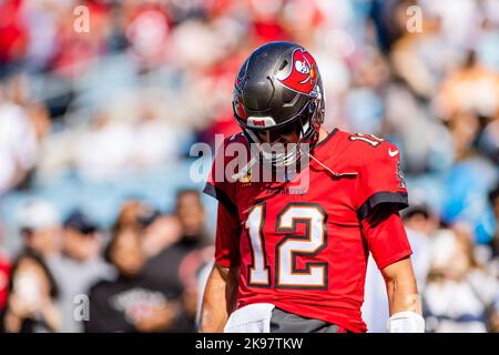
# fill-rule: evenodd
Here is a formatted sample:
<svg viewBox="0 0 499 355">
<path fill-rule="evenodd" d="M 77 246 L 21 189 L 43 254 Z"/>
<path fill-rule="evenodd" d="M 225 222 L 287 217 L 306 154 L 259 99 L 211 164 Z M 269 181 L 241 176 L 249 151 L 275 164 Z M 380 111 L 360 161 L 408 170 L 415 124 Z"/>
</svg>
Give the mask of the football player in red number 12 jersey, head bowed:
<svg viewBox="0 0 499 355">
<path fill-rule="evenodd" d="M 398 213 L 408 204 L 397 146 L 322 129 L 316 61 L 291 42 L 249 55 L 233 108 L 242 133 L 224 141 L 204 190 L 218 214 L 201 332 L 366 332 L 369 252 L 386 281 L 388 331 L 424 332 Z M 278 144 L 285 149 L 273 150 Z M 235 145 L 247 148 L 247 163 L 227 175 Z M 262 166 L 297 168 L 264 181 Z"/>
</svg>

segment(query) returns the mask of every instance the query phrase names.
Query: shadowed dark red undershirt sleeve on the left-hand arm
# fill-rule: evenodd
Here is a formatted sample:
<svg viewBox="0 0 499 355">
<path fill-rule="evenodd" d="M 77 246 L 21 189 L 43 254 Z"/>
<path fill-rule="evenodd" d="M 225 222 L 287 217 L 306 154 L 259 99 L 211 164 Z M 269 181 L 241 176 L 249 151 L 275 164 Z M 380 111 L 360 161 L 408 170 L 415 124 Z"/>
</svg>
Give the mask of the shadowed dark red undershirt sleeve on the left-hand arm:
<svg viewBox="0 0 499 355">
<path fill-rule="evenodd" d="M 240 266 L 241 223 L 234 213 L 218 203 L 215 237 L 215 261 L 224 267 Z"/>
</svg>

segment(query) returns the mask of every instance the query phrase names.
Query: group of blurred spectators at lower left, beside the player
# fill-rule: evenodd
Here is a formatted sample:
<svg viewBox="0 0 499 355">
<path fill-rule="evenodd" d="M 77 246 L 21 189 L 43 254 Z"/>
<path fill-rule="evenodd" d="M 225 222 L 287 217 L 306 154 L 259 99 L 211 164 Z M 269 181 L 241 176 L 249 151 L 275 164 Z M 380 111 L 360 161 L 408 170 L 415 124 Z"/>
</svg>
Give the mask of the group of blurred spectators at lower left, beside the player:
<svg viewBox="0 0 499 355">
<path fill-rule="evenodd" d="M 30 201 L 0 329 L 194 332 L 197 276 L 214 252 L 205 219 L 196 190 L 179 191 L 171 214 L 128 200 L 105 232 L 82 211 L 61 221 L 50 203 Z"/>
</svg>

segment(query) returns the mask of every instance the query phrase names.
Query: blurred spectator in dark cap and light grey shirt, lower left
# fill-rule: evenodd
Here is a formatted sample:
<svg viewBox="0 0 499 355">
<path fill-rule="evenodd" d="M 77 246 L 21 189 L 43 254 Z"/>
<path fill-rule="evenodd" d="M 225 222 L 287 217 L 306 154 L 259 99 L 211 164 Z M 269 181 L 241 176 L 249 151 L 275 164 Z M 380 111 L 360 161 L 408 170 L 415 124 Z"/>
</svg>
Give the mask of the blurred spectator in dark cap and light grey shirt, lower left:
<svg viewBox="0 0 499 355">
<path fill-rule="evenodd" d="M 72 212 L 63 226 L 62 253 L 49 262 L 60 286 L 61 332 L 83 332 L 83 324 L 73 316 L 75 297 L 99 280 L 111 278 L 113 271 L 100 257 L 100 236 L 85 214 Z"/>
</svg>

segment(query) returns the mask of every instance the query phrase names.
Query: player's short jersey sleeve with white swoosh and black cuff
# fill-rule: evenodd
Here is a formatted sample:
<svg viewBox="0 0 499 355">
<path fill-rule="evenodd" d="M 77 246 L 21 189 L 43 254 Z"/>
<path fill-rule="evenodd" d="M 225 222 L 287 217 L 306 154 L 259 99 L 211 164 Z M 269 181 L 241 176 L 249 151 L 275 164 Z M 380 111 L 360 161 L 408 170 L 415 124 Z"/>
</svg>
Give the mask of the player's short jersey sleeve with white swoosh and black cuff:
<svg viewBox="0 0 499 355">
<path fill-rule="evenodd" d="M 360 166 L 357 215 L 360 221 L 380 204 L 398 211 L 408 206 L 407 187 L 400 168 L 400 152 L 395 144 L 383 142 Z"/>
</svg>

